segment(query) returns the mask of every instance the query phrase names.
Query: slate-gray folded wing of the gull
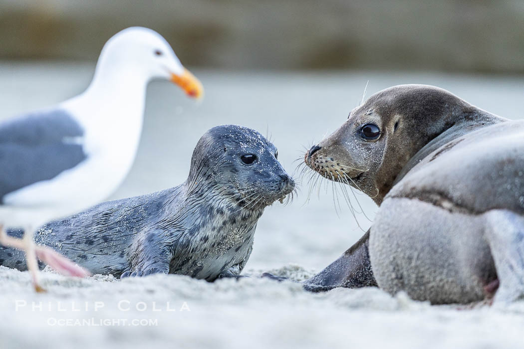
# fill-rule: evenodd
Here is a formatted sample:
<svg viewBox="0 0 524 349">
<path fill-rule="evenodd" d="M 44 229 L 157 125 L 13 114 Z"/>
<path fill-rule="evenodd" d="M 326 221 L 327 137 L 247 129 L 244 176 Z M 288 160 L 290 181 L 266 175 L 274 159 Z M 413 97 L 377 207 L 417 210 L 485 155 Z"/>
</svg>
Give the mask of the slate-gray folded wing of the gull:
<svg viewBox="0 0 524 349">
<path fill-rule="evenodd" d="M 84 130 L 66 111 L 35 112 L 0 124 L 0 201 L 86 159 Z"/>
</svg>

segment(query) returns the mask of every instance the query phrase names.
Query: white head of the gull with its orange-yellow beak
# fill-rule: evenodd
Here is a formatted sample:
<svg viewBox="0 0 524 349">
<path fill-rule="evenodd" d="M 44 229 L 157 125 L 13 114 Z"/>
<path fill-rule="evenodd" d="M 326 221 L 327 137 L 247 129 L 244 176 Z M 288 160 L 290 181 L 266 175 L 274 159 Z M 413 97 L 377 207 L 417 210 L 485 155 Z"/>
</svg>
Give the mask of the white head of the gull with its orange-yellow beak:
<svg viewBox="0 0 524 349">
<path fill-rule="evenodd" d="M 148 82 L 160 78 L 170 80 L 184 92 L 200 98 L 200 81 L 184 68 L 169 43 L 154 30 L 131 27 L 116 33 L 100 53 L 97 70 L 125 71 Z"/>
</svg>

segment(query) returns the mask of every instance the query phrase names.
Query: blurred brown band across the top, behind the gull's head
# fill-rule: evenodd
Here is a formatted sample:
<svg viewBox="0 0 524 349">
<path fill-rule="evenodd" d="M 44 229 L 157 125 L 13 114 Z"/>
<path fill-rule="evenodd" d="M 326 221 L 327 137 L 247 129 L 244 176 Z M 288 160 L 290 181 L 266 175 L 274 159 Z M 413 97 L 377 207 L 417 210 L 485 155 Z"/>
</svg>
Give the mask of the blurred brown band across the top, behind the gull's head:
<svg viewBox="0 0 524 349">
<path fill-rule="evenodd" d="M 129 26 L 213 69 L 524 72 L 522 0 L 2 0 L 0 59 L 92 61 Z"/>
</svg>

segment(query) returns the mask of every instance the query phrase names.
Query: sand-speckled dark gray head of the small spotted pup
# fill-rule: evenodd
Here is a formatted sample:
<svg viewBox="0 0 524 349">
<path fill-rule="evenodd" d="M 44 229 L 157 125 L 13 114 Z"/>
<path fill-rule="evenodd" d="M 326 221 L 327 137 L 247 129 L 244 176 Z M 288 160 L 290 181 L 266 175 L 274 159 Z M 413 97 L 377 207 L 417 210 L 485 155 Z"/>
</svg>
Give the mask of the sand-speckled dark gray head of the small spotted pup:
<svg viewBox="0 0 524 349">
<path fill-rule="evenodd" d="M 219 193 L 233 208 L 264 209 L 294 189 L 277 157 L 275 145 L 259 132 L 216 126 L 196 144 L 187 183 L 192 190 Z"/>
</svg>

